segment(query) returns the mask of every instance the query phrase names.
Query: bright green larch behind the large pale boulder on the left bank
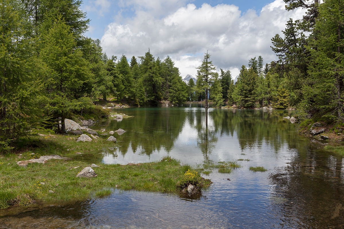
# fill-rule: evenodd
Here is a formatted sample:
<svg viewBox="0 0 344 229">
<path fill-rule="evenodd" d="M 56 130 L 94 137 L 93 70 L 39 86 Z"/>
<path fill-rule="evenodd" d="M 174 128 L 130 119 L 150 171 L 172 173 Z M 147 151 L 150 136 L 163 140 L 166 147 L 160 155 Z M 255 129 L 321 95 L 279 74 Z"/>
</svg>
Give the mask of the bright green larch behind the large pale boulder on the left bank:
<svg viewBox="0 0 344 229">
<path fill-rule="evenodd" d="M 56 125 L 61 121 L 61 133 L 65 132 L 64 119 L 73 110 L 90 103 L 83 98 L 86 84 L 92 81 L 83 53 L 77 48 L 75 38 L 69 26 L 61 18 L 41 37 L 40 58 L 47 66 L 44 79 L 49 92 L 47 109 Z M 58 126 L 58 125 L 57 125 Z"/>
</svg>

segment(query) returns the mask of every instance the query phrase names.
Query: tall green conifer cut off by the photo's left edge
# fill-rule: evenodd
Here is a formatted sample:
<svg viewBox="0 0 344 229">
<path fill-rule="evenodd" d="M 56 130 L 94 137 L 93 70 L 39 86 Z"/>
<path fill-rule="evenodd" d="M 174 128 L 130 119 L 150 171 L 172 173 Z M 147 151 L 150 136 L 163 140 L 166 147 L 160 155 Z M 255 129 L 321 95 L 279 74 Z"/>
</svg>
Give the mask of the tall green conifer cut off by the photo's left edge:
<svg viewBox="0 0 344 229">
<path fill-rule="evenodd" d="M 34 55 L 28 23 L 20 1 L 0 2 L 0 152 L 29 134 L 40 120 L 39 60 Z"/>
</svg>

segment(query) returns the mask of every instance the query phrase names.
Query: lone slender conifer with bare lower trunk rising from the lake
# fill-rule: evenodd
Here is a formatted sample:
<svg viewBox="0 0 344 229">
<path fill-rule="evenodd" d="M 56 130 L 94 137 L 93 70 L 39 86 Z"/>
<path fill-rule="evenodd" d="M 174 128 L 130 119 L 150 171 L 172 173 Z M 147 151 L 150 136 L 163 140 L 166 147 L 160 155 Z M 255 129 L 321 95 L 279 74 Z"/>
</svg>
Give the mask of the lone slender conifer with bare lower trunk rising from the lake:
<svg viewBox="0 0 344 229">
<path fill-rule="evenodd" d="M 197 82 L 196 88 L 199 92 L 205 91 L 205 108 L 208 108 L 208 93 L 211 85 L 214 83 L 214 76 L 216 73 L 213 62 L 210 61 L 210 54 L 204 54 L 201 66 L 197 68 Z"/>
</svg>

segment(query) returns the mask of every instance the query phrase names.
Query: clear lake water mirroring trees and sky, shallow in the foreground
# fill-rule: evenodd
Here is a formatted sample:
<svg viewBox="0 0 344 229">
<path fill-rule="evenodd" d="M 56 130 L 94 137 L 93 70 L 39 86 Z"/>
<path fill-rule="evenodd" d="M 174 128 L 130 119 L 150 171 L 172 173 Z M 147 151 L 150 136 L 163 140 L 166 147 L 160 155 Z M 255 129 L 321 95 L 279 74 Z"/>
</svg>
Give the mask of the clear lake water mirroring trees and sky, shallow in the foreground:
<svg viewBox="0 0 344 229">
<path fill-rule="evenodd" d="M 344 228 L 343 158 L 298 136 L 282 121 L 292 111 L 206 113 L 191 104 L 118 112 L 134 117 L 97 128 L 127 132 L 115 133 L 116 147 L 92 160 L 126 164 L 169 155 L 195 166 L 250 161 L 239 161 L 242 168 L 231 174 L 204 175 L 214 183 L 196 199 L 115 189 L 109 197 L 0 218 L 0 228 Z M 250 166 L 268 171 L 252 173 Z"/>
</svg>

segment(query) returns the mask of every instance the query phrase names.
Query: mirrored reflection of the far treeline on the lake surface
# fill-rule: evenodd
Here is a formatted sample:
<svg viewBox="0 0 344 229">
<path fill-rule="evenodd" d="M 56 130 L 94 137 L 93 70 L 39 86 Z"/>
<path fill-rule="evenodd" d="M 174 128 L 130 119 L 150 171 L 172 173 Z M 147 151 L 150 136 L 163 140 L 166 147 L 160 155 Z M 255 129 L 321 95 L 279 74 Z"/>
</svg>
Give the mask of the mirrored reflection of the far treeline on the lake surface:
<svg viewBox="0 0 344 229">
<path fill-rule="evenodd" d="M 189 136 L 196 136 L 197 148 L 207 160 L 219 137 L 237 138 L 242 151 L 259 147 L 263 142 L 276 152 L 286 143 L 295 148 L 299 136 L 290 134 L 295 126 L 282 119 L 290 112 L 200 107 L 134 108 L 126 111 L 134 117 L 102 125 L 108 130 L 122 128 L 127 131 L 117 138 L 116 152 L 122 156 L 128 151 L 147 156 L 161 150 L 170 153 L 176 141 L 185 142 Z"/>
</svg>

